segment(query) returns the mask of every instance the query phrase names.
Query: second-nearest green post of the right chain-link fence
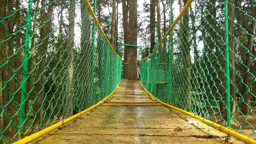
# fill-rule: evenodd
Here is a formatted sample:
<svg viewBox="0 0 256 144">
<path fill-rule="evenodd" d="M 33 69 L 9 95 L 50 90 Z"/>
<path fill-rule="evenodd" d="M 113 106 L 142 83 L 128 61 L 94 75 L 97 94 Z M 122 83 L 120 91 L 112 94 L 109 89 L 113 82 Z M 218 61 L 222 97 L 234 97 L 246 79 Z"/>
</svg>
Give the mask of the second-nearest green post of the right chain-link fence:
<svg viewBox="0 0 256 144">
<path fill-rule="evenodd" d="M 172 0 L 170 0 L 170 26 L 172 25 Z M 172 104 L 172 31 L 170 32 L 170 98 L 169 104 Z"/>
</svg>

